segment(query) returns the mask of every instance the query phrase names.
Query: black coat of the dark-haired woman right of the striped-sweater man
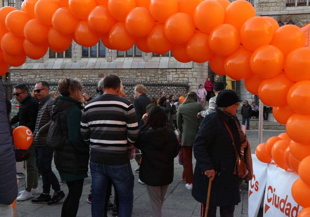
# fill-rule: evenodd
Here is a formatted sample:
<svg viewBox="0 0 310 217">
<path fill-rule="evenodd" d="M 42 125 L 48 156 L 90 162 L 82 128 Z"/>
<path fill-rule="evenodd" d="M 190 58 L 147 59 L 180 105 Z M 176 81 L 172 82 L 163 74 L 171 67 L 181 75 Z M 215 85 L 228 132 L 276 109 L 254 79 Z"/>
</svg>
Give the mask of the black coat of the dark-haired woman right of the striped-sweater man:
<svg viewBox="0 0 310 217">
<path fill-rule="evenodd" d="M 163 186 L 173 181 L 174 158 L 179 153 L 179 142 L 168 126 L 139 132 L 135 147 L 142 153 L 139 179 L 151 186 Z"/>
</svg>

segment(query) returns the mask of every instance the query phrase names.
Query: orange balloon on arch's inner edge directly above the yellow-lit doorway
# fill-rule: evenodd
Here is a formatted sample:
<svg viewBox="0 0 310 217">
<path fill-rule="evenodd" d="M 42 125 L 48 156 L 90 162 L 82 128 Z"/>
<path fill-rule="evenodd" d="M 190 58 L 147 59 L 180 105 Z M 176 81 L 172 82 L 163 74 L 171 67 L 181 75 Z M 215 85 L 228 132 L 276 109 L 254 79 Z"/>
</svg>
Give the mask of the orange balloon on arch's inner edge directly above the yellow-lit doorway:
<svg viewBox="0 0 310 217">
<path fill-rule="evenodd" d="M 251 55 L 251 51 L 240 47 L 237 51 L 226 57 L 224 63 L 226 74 L 236 81 L 250 77 L 253 74 L 250 68 Z"/>
</svg>

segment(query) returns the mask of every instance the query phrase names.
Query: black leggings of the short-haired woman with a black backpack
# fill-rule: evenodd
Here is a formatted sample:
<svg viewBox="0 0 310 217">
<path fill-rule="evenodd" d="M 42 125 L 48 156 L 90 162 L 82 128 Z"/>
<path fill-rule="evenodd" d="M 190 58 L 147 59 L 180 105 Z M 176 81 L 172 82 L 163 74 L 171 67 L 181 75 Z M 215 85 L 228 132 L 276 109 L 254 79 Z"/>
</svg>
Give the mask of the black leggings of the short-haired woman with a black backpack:
<svg viewBox="0 0 310 217">
<path fill-rule="evenodd" d="M 61 217 L 75 217 L 78 213 L 78 205 L 83 191 L 84 179 L 66 182 L 69 193 L 64 200 L 61 209 Z"/>
</svg>

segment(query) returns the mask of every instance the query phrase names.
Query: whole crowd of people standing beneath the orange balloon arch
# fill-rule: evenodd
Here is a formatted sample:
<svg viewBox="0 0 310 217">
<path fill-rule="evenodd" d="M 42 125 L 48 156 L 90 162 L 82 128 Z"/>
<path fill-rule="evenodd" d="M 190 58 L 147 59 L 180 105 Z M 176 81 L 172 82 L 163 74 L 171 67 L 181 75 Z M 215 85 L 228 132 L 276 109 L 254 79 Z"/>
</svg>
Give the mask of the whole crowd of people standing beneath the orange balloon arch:
<svg viewBox="0 0 310 217">
<path fill-rule="evenodd" d="M 165 91 L 157 99 L 150 99 L 142 84 L 135 86 L 133 99 L 126 100 L 122 82 L 115 75 L 98 82 L 98 95 L 93 99 L 86 92 L 82 94 L 82 84 L 72 78 L 59 81 L 60 95 L 49 90 L 47 82 L 39 81 L 32 97 L 27 86 L 16 85 L 13 95 L 20 105 L 12 118 L 9 117 L 11 103 L 4 101 L 8 118 L 0 122 L 1 126 L 8 135 L 16 123 L 27 126 L 33 133 L 33 143 L 27 149 L 29 158 L 25 159 L 25 189 L 17 198 L 16 177 L 22 175 L 16 173 L 16 165 L 7 162 L 10 172 L 17 174 L 15 185 L 11 183 L 13 177 L 8 176 L 11 173 L 0 173 L 3 178 L 0 188 L 1 180 L 6 180 L 12 189 L 7 200 L 0 199 L 0 206 L 39 194 L 32 203 L 55 205 L 64 200 L 61 216 L 76 216 L 89 166 L 91 189 L 87 202 L 91 203 L 91 215 L 106 217 L 107 210 L 113 208 L 113 216 L 129 217 L 134 198 L 130 161 L 135 159 L 138 166 L 134 171 L 139 171 L 138 183 L 146 185 L 152 216 L 160 217 L 167 188 L 174 179 L 174 158 L 179 155 L 179 163 L 184 168 L 180 182 L 186 183 L 185 188 L 192 190 L 193 197 L 201 202 L 201 215 L 205 212 L 210 178 L 214 187 L 210 192 L 208 217 L 216 215 L 217 206 L 221 216 L 233 216 L 234 207 L 240 202 L 240 178 L 233 174 L 236 154 L 232 139 L 238 153 L 241 148 L 245 148 L 244 153 L 250 153 L 250 146 L 235 115 L 241 100 L 233 91 L 225 90 L 223 82 L 217 79 L 212 84 L 208 78 L 205 89 L 200 85 L 197 93 L 187 93 L 182 102 L 174 95 L 167 97 Z M 203 98 L 208 102 L 206 109 Z M 246 102 L 241 109 L 242 117 L 257 117 L 259 108 Z M 233 138 L 222 120 L 229 126 Z M 6 151 L 13 153 L 9 139 L 7 144 L 10 147 Z M 192 153 L 196 158 L 194 172 Z M 60 180 L 51 168 L 53 158 Z M 249 158 L 246 162 L 250 168 Z M 5 160 L 11 161 L 11 158 Z M 39 176 L 42 176 L 42 193 L 38 189 Z M 69 189 L 66 196 L 59 181 L 65 182 Z M 114 204 L 109 201 L 112 186 Z"/>
</svg>

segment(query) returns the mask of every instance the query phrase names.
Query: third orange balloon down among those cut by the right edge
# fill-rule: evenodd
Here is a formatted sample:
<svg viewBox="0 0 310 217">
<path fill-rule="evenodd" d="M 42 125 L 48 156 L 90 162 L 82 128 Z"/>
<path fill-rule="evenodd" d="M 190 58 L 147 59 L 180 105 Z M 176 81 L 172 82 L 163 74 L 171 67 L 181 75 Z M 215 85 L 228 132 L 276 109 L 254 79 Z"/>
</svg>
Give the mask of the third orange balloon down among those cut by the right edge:
<svg viewBox="0 0 310 217">
<path fill-rule="evenodd" d="M 286 122 L 286 132 L 289 137 L 298 143 L 310 143 L 308 126 L 310 115 L 293 114 Z"/>
</svg>

